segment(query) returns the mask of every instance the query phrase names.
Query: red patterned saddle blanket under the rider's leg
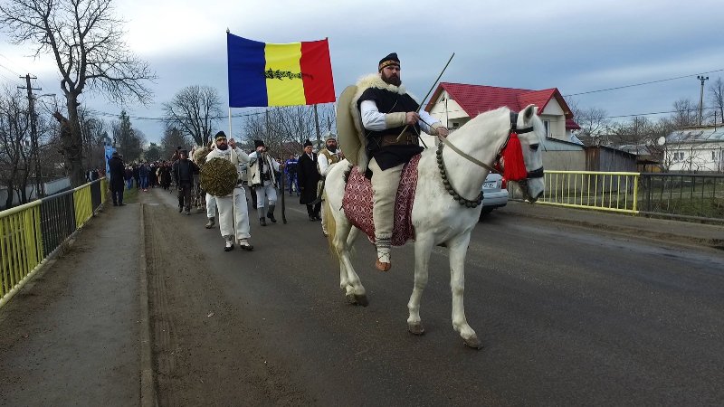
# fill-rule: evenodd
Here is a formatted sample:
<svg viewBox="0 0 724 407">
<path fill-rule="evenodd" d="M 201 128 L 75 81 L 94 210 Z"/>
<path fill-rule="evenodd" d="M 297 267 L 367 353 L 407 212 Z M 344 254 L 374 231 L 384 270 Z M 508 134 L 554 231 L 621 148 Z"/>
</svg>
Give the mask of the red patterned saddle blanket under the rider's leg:
<svg viewBox="0 0 724 407">
<path fill-rule="evenodd" d="M 417 164 L 420 155 L 414 156 L 403 167 L 400 186 L 395 198 L 395 221 L 392 232 L 392 245 L 402 246 L 406 241 L 414 239 L 412 212 L 414 191 L 417 188 Z M 342 208 L 349 222 L 367 234 L 369 241 L 375 242 L 375 222 L 372 221 L 372 183 L 364 174 L 352 167 L 349 173 Z"/>
</svg>

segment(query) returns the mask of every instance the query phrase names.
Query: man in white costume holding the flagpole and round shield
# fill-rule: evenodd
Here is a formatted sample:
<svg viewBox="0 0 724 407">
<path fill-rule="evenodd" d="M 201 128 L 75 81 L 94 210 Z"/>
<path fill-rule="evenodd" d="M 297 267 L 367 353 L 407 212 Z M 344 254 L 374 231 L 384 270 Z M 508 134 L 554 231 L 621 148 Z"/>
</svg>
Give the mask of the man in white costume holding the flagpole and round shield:
<svg viewBox="0 0 724 407">
<path fill-rule="evenodd" d="M 208 163 L 214 158 L 223 158 L 231 161 L 236 166 L 236 186 L 232 194 L 225 196 L 214 196 L 216 207 L 219 211 L 219 231 L 224 237 L 224 251 L 232 251 L 234 242 L 245 251 L 252 251 L 254 248 L 249 243 L 252 235 L 249 233 L 249 210 L 246 205 L 246 192 L 243 189 L 242 178 L 240 177 L 241 164 L 249 163 L 249 156 L 243 152 L 233 140 L 227 144 L 226 134 L 223 131 L 216 133 L 215 148 L 206 155 Z"/>
</svg>

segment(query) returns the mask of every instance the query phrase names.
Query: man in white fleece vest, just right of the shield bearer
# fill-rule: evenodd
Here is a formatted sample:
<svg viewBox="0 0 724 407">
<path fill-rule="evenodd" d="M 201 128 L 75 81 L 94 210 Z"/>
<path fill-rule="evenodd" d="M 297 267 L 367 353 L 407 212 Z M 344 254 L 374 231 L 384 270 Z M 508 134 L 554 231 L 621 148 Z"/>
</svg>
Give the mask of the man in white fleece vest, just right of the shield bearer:
<svg viewBox="0 0 724 407">
<path fill-rule="evenodd" d="M 266 152 L 262 140 L 254 140 L 256 151 L 249 155 L 249 186 L 256 192 L 256 211 L 259 214 L 259 224 L 266 226 L 264 217 L 264 204 L 269 200 L 269 210 L 266 217 L 276 223 L 274 209 L 277 204 L 276 174 L 280 172 L 280 164 Z M 283 191 L 281 192 L 284 193 Z"/>
</svg>

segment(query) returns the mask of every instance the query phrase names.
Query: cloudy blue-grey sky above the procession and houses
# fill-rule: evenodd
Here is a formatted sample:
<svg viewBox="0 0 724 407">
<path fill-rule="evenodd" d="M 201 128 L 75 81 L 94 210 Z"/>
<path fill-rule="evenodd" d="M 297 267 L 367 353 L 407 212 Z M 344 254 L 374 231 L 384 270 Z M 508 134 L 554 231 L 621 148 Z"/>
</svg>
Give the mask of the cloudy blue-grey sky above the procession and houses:
<svg viewBox="0 0 724 407">
<path fill-rule="evenodd" d="M 2 1 L 2 0 L 0 0 Z M 698 74 L 706 87 L 724 77 L 724 2 L 721 0 L 548 1 L 474 0 L 414 2 L 117 0 L 127 21 L 127 43 L 157 73 L 148 107 L 127 108 L 134 128 L 159 141 L 161 104 L 190 85 L 219 91 L 224 107 L 226 29 L 266 43 L 329 38 L 335 90 L 370 72 L 389 52 L 402 62 L 402 80 L 422 98 L 455 52 L 442 81 L 541 90 L 557 88 L 583 108 L 610 117 L 672 110 L 678 99 L 698 105 Z M 33 60 L 32 45 L 16 46 L 0 33 L 0 84 L 57 93 L 53 62 Z M 643 84 L 645 82 L 654 82 Z M 624 87 L 618 90 L 612 88 Z M 607 91 L 596 91 L 607 90 Z M 588 92 L 588 93 L 586 93 Z M 567 96 L 574 95 L 576 96 Z M 705 90 L 705 100 L 708 92 Z M 118 116 L 100 94 L 82 103 Z M 224 108 L 225 109 L 225 108 Z M 233 109 L 242 114 L 254 108 Z M 649 118 L 659 118 L 650 115 Z M 626 118 L 615 118 L 625 120 Z M 241 130 L 234 120 L 234 134 Z M 219 129 L 228 128 L 225 120 Z"/>
</svg>

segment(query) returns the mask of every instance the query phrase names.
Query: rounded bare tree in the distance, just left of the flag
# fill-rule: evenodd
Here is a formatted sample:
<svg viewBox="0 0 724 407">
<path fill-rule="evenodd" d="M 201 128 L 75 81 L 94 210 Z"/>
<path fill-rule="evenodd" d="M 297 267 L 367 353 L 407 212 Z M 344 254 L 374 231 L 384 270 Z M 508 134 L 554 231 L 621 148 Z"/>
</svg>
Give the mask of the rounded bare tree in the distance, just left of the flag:
<svg viewBox="0 0 724 407">
<path fill-rule="evenodd" d="M 205 146 L 211 140 L 214 123 L 222 118 L 219 93 L 209 86 L 188 86 L 164 103 L 168 127 L 183 130 L 197 146 Z"/>
</svg>

